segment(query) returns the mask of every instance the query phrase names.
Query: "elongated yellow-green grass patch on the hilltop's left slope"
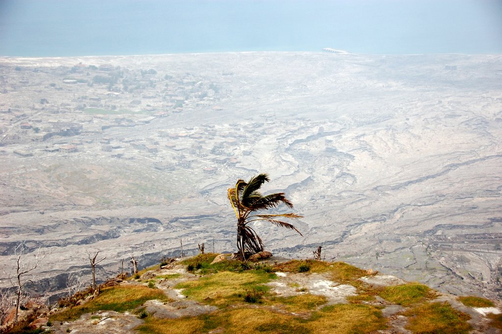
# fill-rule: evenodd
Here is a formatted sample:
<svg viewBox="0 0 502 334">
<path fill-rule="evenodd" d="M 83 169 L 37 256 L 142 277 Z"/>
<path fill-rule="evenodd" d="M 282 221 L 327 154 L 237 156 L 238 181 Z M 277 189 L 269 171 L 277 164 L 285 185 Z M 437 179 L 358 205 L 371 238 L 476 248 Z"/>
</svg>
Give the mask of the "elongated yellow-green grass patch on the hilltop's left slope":
<svg viewBox="0 0 502 334">
<path fill-rule="evenodd" d="M 112 310 L 125 312 L 135 309 L 147 300 L 172 301 L 162 290 L 150 289 L 142 285 L 113 286 L 104 288 L 99 295 L 83 305 L 67 308 L 50 317 L 52 321 L 75 320 L 85 313 Z"/>
</svg>

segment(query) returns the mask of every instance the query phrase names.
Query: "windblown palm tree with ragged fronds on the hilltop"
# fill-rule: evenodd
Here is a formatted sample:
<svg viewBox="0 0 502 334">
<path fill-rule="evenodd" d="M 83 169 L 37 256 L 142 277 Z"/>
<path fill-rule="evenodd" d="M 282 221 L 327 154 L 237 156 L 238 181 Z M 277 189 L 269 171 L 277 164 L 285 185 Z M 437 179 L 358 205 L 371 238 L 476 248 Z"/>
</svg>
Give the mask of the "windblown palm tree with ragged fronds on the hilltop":
<svg viewBox="0 0 502 334">
<path fill-rule="evenodd" d="M 247 182 L 238 179 L 234 188 L 228 188 L 228 199 L 237 216 L 236 254 L 240 260 L 247 260 L 249 256 L 264 250 L 262 239 L 255 230 L 249 226 L 249 223 L 252 221 L 267 220 L 276 226 L 294 230 L 302 235 L 293 225 L 277 219 L 278 217 L 301 218 L 301 215 L 292 212 L 280 214 L 253 214 L 257 213 L 257 211 L 277 207 L 280 204 L 285 204 L 290 208 L 293 207 L 293 203 L 284 196 L 284 192 L 264 196 L 258 191 L 262 185 L 269 180 L 269 176 L 262 173 L 250 178 Z"/>
</svg>

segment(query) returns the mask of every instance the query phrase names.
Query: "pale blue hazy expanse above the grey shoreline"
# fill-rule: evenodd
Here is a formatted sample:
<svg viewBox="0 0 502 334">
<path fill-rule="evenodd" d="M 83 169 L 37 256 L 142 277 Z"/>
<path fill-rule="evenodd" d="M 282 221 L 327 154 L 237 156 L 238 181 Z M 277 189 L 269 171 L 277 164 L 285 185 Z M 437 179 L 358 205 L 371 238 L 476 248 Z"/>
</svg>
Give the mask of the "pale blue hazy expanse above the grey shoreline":
<svg viewBox="0 0 502 334">
<path fill-rule="evenodd" d="M 0 55 L 502 54 L 502 0 L 0 0 Z"/>
</svg>

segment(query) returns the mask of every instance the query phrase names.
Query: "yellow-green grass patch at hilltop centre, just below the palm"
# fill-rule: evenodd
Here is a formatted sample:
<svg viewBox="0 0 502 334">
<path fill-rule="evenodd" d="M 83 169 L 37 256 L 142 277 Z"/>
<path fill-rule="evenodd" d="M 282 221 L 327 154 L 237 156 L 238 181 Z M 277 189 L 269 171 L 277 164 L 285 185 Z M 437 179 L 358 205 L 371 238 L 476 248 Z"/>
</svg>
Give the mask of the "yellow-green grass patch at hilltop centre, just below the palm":
<svg viewBox="0 0 502 334">
<path fill-rule="evenodd" d="M 269 287 L 263 284 L 275 278 L 275 274 L 256 270 L 241 273 L 223 271 L 196 281 L 179 283 L 176 288 L 184 289 L 184 295 L 200 302 L 224 306 L 243 301 L 241 297 L 246 294 L 246 290 L 268 291 Z"/>
</svg>

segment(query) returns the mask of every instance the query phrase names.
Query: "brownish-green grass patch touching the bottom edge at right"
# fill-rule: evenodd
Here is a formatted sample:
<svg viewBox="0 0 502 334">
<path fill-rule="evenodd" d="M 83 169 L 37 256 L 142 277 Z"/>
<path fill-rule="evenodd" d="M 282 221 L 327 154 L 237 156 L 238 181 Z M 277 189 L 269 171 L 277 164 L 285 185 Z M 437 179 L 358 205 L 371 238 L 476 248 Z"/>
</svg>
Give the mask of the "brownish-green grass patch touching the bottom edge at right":
<svg viewBox="0 0 502 334">
<path fill-rule="evenodd" d="M 403 314 L 409 318 L 406 328 L 413 333 L 467 334 L 471 329 L 470 316 L 447 302 L 419 305 Z"/>
</svg>

